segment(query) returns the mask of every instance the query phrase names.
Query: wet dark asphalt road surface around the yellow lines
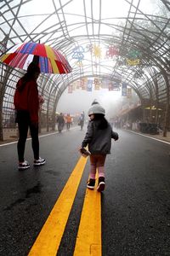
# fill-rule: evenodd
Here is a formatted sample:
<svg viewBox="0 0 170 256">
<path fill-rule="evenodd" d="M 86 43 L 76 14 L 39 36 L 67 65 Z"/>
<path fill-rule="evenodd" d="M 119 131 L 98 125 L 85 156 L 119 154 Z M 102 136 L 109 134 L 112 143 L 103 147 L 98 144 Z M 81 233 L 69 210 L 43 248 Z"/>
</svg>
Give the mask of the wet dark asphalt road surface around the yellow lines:
<svg viewBox="0 0 170 256">
<path fill-rule="evenodd" d="M 118 131 L 105 163 L 101 196 L 102 255 L 170 255 L 170 145 Z M 27 255 L 80 155 L 75 128 L 40 138 L 47 164 L 18 171 L 16 144 L 0 147 L 0 255 Z M 31 141 L 26 160 L 32 163 Z M 89 162 L 57 255 L 73 255 Z M 84 256 L 84 255 L 80 255 Z"/>
</svg>

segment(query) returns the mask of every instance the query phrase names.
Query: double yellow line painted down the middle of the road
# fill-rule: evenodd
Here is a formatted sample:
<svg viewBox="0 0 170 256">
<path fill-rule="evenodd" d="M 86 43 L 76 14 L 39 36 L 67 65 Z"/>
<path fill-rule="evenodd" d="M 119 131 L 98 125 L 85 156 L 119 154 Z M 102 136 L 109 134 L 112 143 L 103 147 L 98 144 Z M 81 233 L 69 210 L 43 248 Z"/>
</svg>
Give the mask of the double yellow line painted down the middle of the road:
<svg viewBox="0 0 170 256">
<path fill-rule="evenodd" d="M 77 162 L 65 188 L 43 225 L 29 256 L 56 256 L 65 225 L 71 212 L 77 189 L 88 158 Z M 101 255 L 101 206 L 100 193 L 87 189 L 77 234 L 74 256 Z"/>
</svg>

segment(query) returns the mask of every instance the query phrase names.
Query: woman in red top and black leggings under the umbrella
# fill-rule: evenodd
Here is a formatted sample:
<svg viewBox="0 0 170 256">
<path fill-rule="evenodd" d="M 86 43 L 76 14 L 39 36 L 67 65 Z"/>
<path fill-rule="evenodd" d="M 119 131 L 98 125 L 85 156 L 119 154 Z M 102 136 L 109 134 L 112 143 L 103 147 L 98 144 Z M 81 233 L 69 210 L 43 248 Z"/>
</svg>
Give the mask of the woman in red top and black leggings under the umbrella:
<svg viewBox="0 0 170 256">
<path fill-rule="evenodd" d="M 45 160 L 39 156 L 38 139 L 38 111 L 44 102 L 42 96 L 38 95 L 37 79 L 40 74 L 40 68 L 34 62 L 31 62 L 27 68 L 26 74 L 19 79 L 14 92 L 14 108 L 16 111 L 16 123 L 18 123 L 19 140 L 17 143 L 17 152 L 19 160 L 19 170 L 25 170 L 30 164 L 25 160 L 25 148 L 28 129 L 31 133 L 31 146 L 34 155 L 34 166 L 42 166 Z"/>
</svg>

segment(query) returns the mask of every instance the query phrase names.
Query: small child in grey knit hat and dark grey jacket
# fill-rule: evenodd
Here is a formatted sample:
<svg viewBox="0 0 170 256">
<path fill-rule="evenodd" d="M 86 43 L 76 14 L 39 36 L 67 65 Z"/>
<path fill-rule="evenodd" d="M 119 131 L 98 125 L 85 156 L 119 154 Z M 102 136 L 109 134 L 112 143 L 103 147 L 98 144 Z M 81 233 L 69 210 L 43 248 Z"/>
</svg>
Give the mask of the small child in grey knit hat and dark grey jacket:
<svg viewBox="0 0 170 256">
<path fill-rule="evenodd" d="M 98 102 L 94 101 L 92 107 L 88 110 L 90 121 L 88 131 L 82 141 L 82 148 L 88 145 L 91 153 L 90 173 L 87 187 L 94 189 L 95 174 L 98 168 L 99 183 L 97 190 L 99 192 L 105 189 L 105 158 L 106 154 L 111 154 L 111 138 L 118 140 L 118 134 L 112 131 L 110 123 L 105 119 L 105 109 Z M 80 150 L 82 150 L 82 148 Z"/>
</svg>

